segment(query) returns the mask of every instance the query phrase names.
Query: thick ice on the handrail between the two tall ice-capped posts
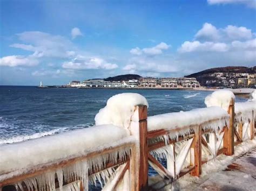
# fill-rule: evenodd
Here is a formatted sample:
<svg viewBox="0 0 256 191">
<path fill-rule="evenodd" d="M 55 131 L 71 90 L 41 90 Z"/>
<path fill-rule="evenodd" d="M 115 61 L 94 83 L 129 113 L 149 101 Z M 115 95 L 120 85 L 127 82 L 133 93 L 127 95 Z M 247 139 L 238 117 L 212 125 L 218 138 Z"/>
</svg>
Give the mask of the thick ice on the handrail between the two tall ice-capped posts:
<svg viewBox="0 0 256 191">
<path fill-rule="evenodd" d="M 147 130 L 167 131 L 178 129 L 177 135 L 171 133 L 171 139 L 178 135 L 187 135 L 198 125 L 203 129 L 222 129 L 228 123 L 229 115 L 224 109 L 215 106 L 209 108 L 193 109 L 190 111 L 171 112 L 147 118 Z"/>
</svg>

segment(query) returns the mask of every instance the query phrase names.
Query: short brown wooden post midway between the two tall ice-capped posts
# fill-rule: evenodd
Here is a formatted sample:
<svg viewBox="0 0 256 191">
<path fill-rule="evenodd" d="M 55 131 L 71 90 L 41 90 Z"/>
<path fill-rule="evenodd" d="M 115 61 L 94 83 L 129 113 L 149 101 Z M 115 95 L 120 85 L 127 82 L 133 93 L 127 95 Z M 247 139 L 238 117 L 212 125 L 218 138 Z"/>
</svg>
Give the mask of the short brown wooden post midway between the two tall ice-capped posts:
<svg viewBox="0 0 256 191">
<path fill-rule="evenodd" d="M 190 174 L 193 176 L 199 176 L 202 171 L 201 126 L 198 126 L 194 131 L 194 140 L 191 146 L 191 148 L 194 150 L 194 169 L 191 171 Z"/>
</svg>

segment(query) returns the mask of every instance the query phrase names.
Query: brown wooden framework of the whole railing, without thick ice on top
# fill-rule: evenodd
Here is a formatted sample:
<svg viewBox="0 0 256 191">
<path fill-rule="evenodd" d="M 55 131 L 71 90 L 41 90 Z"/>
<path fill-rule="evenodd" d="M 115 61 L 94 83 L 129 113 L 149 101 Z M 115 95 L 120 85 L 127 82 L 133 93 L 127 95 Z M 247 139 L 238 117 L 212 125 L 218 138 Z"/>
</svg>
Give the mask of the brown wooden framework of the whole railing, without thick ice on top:
<svg viewBox="0 0 256 191">
<path fill-rule="evenodd" d="M 219 129 L 205 129 L 203 124 L 191 126 L 191 133 L 179 135 L 179 131 L 183 128 L 175 128 L 171 130 L 158 129 L 154 131 L 147 130 L 147 107 L 146 105 L 137 105 L 131 118 L 130 132 L 134 142 L 126 143 L 118 146 L 110 146 L 103 150 L 97 150 L 86 155 L 62 160 L 50 165 L 43 165 L 40 168 L 35 168 L 25 174 L 13 176 L 0 182 L 0 188 L 8 190 L 8 185 L 15 185 L 20 182 L 20 186 L 24 190 L 29 190 L 26 180 L 48 172 L 57 172 L 58 169 L 63 169 L 79 162 L 89 161 L 92 158 L 97 158 L 102 155 L 107 155 L 124 147 L 129 147 L 130 152 L 125 157 L 117 157 L 116 161 L 107 158 L 100 168 L 91 168 L 87 171 L 86 182 L 82 176 L 72 176 L 69 181 L 58 180 L 55 174 L 55 186 L 59 188 L 59 181 L 63 181 L 63 186 L 70 183 L 78 183 L 80 190 L 88 189 L 90 176 L 97 174 L 97 179 L 105 179 L 100 176 L 100 172 L 112 168 L 116 173 L 109 174 L 107 179 L 109 182 L 103 186 L 103 189 L 115 190 L 122 182 L 125 174 L 129 173 L 129 179 L 126 179 L 126 185 L 129 185 L 130 190 L 147 190 L 149 189 L 149 165 L 153 167 L 163 178 L 167 178 L 172 182 L 179 179 L 181 176 L 190 173 L 192 176 L 200 176 L 202 165 L 207 161 L 216 158 L 219 154 L 233 155 L 234 146 L 240 144 L 244 139 L 242 122 L 235 128 L 234 100 L 228 108 L 230 115 L 228 125 Z M 254 116 L 254 114 L 253 114 Z M 184 119 L 186 120 L 186 119 Z M 219 119 L 211 119 L 219 120 Z M 254 138 L 254 117 L 248 122 L 250 124 L 250 139 Z M 187 127 L 186 127 L 187 128 Z M 178 135 L 175 139 L 169 135 Z M 111 140 L 110 140 L 111 141 Z M 159 154 L 160 153 L 160 154 Z M 109 156 L 109 155 L 108 155 Z M 167 165 L 164 166 L 159 158 L 165 158 Z M 93 165 L 92 165 L 93 166 Z M 1 171 L 0 171 L 1 172 Z M 1 177 L 1 174 L 0 174 Z M 124 182 L 124 181 L 123 181 Z M 84 185 L 85 184 L 85 185 Z M 103 183 L 104 185 L 104 183 Z M 17 187 L 17 189 L 21 189 Z M 37 189 L 38 188 L 37 184 Z M 32 189 L 36 189 L 35 186 Z"/>
</svg>

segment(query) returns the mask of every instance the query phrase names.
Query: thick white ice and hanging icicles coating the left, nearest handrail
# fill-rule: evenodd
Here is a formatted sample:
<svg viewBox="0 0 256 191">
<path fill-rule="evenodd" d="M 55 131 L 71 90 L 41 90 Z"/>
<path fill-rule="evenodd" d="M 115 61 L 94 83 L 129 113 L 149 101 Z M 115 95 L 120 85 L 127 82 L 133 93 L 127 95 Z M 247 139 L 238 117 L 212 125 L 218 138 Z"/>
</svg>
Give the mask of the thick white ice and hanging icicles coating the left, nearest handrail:
<svg viewBox="0 0 256 191">
<path fill-rule="evenodd" d="M 0 146 L 0 182 L 13 176 L 58 164 L 60 161 L 130 143 L 134 143 L 134 138 L 127 130 L 114 125 L 99 125 L 26 142 L 2 145 Z M 52 188 L 55 188 L 56 174 L 60 190 L 62 190 L 63 177 L 64 181 L 68 182 L 75 181 L 79 177 L 86 189 L 89 172 L 102 171 L 107 161 L 113 164 L 116 164 L 118 159 L 125 161 L 127 155 L 130 155 L 130 146 L 86 158 L 56 171 L 26 179 L 24 182 L 31 190 L 34 190 L 33 187 L 35 188 L 37 183 L 40 190 L 54 190 Z M 21 182 L 17 183 L 18 187 L 21 187 Z"/>
</svg>

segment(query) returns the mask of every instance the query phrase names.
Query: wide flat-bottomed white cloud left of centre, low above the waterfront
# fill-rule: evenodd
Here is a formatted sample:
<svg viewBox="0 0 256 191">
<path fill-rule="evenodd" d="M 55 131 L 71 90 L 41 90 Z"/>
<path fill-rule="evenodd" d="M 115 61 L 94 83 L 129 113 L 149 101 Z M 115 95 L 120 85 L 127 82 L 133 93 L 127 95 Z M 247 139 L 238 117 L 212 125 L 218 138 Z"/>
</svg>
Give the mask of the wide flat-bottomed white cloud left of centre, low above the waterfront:
<svg viewBox="0 0 256 191">
<path fill-rule="evenodd" d="M 115 63 L 106 62 L 100 58 L 86 59 L 84 57 L 75 58 L 72 61 L 64 62 L 62 65 L 65 69 L 116 69 L 118 66 Z"/>
</svg>

